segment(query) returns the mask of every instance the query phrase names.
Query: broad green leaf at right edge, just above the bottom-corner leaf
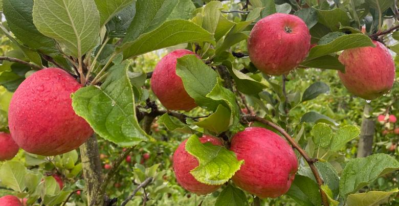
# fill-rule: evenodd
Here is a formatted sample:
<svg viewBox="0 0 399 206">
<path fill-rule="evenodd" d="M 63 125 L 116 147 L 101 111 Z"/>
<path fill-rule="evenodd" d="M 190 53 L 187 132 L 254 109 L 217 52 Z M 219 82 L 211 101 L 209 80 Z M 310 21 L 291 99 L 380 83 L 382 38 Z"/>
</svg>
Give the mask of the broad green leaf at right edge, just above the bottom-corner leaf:
<svg viewBox="0 0 399 206">
<path fill-rule="evenodd" d="M 387 154 L 373 154 L 368 157 L 351 159 L 342 171 L 340 196 L 345 200 L 380 176 L 399 169 L 399 163 Z"/>
</svg>

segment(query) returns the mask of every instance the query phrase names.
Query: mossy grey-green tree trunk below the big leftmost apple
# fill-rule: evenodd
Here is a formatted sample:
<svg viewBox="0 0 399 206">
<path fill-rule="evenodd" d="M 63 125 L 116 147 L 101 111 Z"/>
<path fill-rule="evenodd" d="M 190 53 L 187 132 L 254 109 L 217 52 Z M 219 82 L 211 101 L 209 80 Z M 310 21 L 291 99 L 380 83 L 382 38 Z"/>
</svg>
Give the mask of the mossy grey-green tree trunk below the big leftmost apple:
<svg viewBox="0 0 399 206">
<path fill-rule="evenodd" d="M 87 204 L 103 205 L 104 192 L 101 189 L 103 174 L 95 134 L 80 146 L 80 155 L 82 158 L 84 181 L 87 188 Z"/>
</svg>

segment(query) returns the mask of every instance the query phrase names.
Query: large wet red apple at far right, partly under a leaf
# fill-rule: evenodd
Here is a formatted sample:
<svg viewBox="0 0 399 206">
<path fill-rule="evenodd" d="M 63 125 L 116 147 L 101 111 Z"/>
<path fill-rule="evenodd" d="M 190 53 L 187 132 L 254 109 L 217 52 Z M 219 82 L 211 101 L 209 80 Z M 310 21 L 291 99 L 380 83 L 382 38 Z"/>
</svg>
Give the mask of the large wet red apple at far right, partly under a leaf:
<svg viewBox="0 0 399 206">
<path fill-rule="evenodd" d="M 338 58 L 345 65 L 345 73 L 338 71 L 342 84 L 366 100 L 386 94 L 395 78 L 395 64 L 387 48 L 378 41 L 373 43 L 375 47 L 344 50 Z"/>
</svg>

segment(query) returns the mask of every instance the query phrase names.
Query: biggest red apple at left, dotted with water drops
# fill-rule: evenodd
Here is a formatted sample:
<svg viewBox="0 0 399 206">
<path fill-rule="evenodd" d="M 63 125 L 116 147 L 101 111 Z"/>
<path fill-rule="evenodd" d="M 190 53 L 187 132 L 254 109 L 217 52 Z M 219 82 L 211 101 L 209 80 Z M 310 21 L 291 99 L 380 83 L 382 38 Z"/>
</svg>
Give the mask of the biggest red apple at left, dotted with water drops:
<svg viewBox="0 0 399 206">
<path fill-rule="evenodd" d="M 81 85 L 60 68 L 35 72 L 16 89 L 9 108 L 11 136 L 27 152 L 53 156 L 78 148 L 92 135 L 72 108 Z"/>
</svg>

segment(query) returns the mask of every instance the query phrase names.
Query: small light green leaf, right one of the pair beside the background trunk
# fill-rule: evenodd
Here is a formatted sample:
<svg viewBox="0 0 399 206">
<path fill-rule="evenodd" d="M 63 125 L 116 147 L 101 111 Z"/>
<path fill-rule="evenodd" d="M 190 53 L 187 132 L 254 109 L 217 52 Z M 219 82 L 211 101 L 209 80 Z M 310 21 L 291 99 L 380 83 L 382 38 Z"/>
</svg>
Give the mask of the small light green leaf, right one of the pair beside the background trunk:
<svg viewBox="0 0 399 206">
<path fill-rule="evenodd" d="M 356 126 L 345 125 L 340 127 L 337 134 L 331 140 L 330 150 L 339 151 L 345 144 L 355 139 L 360 133 L 360 129 Z"/>
</svg>

